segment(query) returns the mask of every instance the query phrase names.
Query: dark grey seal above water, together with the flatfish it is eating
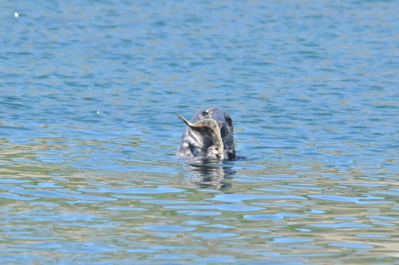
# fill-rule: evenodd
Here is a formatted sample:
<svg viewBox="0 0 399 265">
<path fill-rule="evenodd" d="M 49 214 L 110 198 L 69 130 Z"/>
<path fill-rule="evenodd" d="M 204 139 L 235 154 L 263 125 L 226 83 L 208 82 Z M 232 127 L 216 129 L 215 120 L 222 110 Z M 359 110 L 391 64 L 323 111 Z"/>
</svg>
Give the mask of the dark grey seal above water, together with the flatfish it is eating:
<svg viewBox="0 0 399 265">
<path fill-rule="evenodd" d="M 177 112 L 177 111 L 176 111 Z M 234 128 L 230 114 L 219 107 L 201 107 L 186 123 L 176 155 L 235 160 Z"/>
</svg>

